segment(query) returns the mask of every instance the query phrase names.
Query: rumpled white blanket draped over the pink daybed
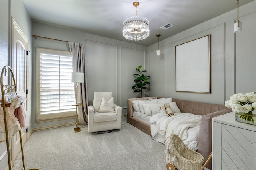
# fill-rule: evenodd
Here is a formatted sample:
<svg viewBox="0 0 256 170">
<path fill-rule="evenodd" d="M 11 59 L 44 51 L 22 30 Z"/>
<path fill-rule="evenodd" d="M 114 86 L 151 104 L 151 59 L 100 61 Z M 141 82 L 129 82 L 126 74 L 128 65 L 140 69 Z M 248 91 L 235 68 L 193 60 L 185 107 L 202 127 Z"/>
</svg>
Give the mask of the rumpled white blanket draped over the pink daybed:
<svg viewBox="0 0 256 170">
<path fill-rule="evenodd" d="M 191 113 L 175 113 L 175 115 L 168 117 L 158 113 L 150 118 L 152 139 L 165 144 L 166 137 L 174 133 L 188 148 L 196 150 L 202 116 Z"/>
</svg>

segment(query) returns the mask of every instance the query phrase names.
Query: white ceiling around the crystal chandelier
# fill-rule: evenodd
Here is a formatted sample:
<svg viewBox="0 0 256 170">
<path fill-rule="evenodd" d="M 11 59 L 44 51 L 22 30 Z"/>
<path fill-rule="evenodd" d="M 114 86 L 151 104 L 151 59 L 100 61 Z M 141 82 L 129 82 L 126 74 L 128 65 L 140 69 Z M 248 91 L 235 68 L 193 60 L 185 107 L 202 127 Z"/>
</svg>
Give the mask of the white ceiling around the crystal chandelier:
<svg viewBox="0 0 256 170">
<path fill-rule="evenodd" d="M 123 37 L 122 26 L 126 18 L 135 16 L 135 0 L 23 1 L 33 20 L 145 46 L 157 43 L 156 34 L 161 34 L 161 41 L 237 8 L 236 0 L 138 0 L 137 16 L 149 20 L 150 35 L 141 41 L 130 41 Z M 239 6 L 252 1 L 240 0 Z M 160 29 L 166 23 L 174 26 Z"/>
</svg>

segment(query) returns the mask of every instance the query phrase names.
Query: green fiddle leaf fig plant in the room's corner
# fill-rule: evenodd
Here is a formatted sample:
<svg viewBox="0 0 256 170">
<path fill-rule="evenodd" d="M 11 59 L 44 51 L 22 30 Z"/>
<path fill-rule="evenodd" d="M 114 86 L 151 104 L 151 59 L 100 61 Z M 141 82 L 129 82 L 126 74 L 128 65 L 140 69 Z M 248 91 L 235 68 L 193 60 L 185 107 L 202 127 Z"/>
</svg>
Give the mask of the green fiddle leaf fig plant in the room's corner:
<svg viewBox="0 0 256 170">
<path fill-rule="evenodd" d="M 148 82 L 148 80 L 149 80 L 149 78 L 150 78 L 150 76 L 145 76 L 145 72 L 147 72 L 146 70 L 144 70 L 144 71 L 140 71 L 140 69 L 141 69 L 141 65 L 140 66 L 138 66 L 138 68 L 135 68 L 136 69 L 136 71 L 139 73 L 139 74 L 133 74 L 134 76 L 136 76 L 137 78 L 134 80 L 134 82 L 136 83 L 136 84 L 134 84 L 133 86 L 132 86 L 132 90 L 134 90 L 134 92 L 140 92 L 140 95 L 141 95 L 141 97 L 142 97 L 142 90 L 143 89 L 147 89 L 147 87 L 146 87 L 146 85 L 148 85 L 149 84 L 149 82 Z"/>
</svg>

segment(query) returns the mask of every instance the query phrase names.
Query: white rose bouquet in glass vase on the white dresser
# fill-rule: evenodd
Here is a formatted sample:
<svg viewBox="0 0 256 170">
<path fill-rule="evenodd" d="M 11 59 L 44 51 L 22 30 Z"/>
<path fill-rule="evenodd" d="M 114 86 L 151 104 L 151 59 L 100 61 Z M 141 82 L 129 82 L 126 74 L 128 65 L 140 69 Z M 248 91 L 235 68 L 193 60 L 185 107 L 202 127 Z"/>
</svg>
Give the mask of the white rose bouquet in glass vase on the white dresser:
<svg viewBox="0 0 256 170">
<path fill-rule="evenodd" d="M 243 114 L 240 115 L 240 118 L 254 122 L 250 115 L 256 109 L 256 92 L 234 94 L 229 100 L 225 101 L 225 106 L 232 108 L 232 111 L 236 113 Z"/>
</svg>

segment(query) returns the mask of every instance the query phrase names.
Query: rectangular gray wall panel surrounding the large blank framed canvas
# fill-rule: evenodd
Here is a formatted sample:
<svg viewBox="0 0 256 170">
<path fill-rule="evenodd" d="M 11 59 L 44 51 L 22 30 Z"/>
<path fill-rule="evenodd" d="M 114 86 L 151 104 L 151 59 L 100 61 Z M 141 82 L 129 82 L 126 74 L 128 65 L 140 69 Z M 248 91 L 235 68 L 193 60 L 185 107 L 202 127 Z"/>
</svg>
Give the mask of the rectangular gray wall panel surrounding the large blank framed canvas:
<svg viewBox="0 0 256 170">
<path fill-rule="evenodd" d="M 182 98 L 186 100 L 196 100 L 204 102 L 211 102 L 216 104 L 224 104 L 225 94 L 226 94 L 226 68 L 225 68 L 225 58 L 226 58 L 226 22 L 222 22 L 220 24 L 216 24 L 214 26 L 208 27 L 208 25 L 202 24 L 203 29 L 191 28 L 185 33 L 181 33 L 175 35 L 170 39 L 169 42 L 166 41 L 166 55 L 165 55 L 165 63 L 159 68 L 165 67 L 165 80 L 167 81 L 165 86 L 166 90 L 164 95 L 166 97 L 172 96 L 173 98 Z M 189 33 L 190 32 L 190 33 Z M 180 45 L 182 43 L 186 43 L 193 39 L 205 36 L 210 34 L 210 61 L 211 61 L 211 93 L 210 94 L 199 94 L 199 93 L 184 93 L 184 92 L 176 92 L 175 91 L 175 46 Z M 154 50 L 149 51 L 150 53 L 154 52 Z M 151 54 L 149 55 L 151 58 Z M 150 65 L 152 66 L 152 62 L 150 59 Z M 156 63 L 154 63 L 156 64 Z M 158 69 L 159 69 L 158 68 Z M 150 69 L 150 72 L 153 72 Z M 159 75 L 161 75 L 161 71 L 158 70 Z M 164 80 L 162 80 L 164 81 Z M 160 80 L 159 80 L 160 82 Z M 164 88 L 164 86 L 161 86 Z M 152 91 L 153 92 L 153 91 Z M 151 93 L 154 96 L 154 92 Z M 157 95 L 159 96 L 159 95 Z"/>
</svg>

